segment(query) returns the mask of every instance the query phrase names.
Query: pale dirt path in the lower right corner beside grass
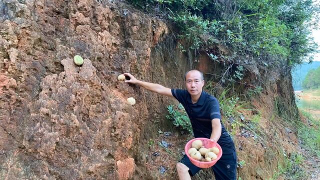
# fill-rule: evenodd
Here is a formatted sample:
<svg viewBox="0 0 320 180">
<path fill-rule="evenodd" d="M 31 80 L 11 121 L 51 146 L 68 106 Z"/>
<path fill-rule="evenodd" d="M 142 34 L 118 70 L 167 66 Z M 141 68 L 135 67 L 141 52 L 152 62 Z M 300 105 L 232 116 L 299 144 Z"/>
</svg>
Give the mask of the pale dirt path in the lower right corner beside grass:
<svg viewBox="0 0 320 180">
<path fill-rule="evenodd" d="M 316 155 L 311 155 L 309 151 L 299 147 L 299 152 L 304 155 L 303 168 L 308 175 L 308 180 L 320 180 L 320 159 Z"/>
</svg>

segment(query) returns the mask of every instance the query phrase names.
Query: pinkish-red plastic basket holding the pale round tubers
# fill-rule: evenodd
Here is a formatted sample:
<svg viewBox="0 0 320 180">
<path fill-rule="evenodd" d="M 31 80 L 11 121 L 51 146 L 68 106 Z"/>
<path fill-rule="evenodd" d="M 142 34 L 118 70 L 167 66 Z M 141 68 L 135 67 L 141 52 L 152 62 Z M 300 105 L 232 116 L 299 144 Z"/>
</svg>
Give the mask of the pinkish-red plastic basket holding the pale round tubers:
<svg viewBox="0 0 320 180">
<path fill-rule="evenodd" d="M 191 143 L 194 141 L 194 140 L 201 140 L 202 141 L 202 146 L 205 147 L 205 148 L 211 148 L 211 147 L 217 147 L 219 149 L 219 153 L 216 155 L 217 158 L 212 160 L 211 162 L 202 162 L 202 161 L 198 161 L 198 160 L 195 160 L 193 159 L 192 157 L 190 157 L 190 155 L 188 154 L 188 150 L 189 148 L 191 148 Z M 184 152 L 185 154 L 189 157 L 190 161 L 197 167 L 201 167 L 201 168 L 209 168 L 211 167 L 212 165 L 214 165 L 216 163 L 216 161 L 218 161 L 221 156 L 222 156 L 222 149 L 220 147 L 220 145 L 214 141 L 211 141 L 210 139 L 208 138 L 203 138 L 203 137 L 199 137 L 199 138 L 194 138 L 194 139 L 191 139 L 189 140 L 186 144 L 185 144 L 185 147 L 184 147 Z"/>
</svg>

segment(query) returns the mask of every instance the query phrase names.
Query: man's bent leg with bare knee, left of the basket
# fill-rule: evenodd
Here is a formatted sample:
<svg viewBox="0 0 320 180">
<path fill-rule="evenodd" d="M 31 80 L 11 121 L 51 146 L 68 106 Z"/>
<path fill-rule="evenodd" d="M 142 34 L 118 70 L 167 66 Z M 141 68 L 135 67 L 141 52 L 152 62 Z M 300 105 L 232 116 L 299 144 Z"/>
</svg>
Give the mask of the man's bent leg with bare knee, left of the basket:
<svg viewBox="0 0 320 180">
<path fill-rule="evenodd" d="M 190 176 L 196 174 L 200 169 L 200 167 L 193 165 L 186 155 L 184 155 L 182 159 L 176 163 L 176 170 L 180 180 L 191 179 Z"/>
</svg>

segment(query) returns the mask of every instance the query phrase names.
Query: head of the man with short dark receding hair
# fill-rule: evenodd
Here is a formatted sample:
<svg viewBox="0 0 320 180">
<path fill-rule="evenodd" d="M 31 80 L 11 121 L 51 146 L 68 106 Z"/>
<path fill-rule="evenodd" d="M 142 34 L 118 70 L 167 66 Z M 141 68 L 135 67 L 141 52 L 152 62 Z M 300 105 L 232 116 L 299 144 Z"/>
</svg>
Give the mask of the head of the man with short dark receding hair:
<svg viewBox="0 0 320 180">
<path fill-rule="evenodd" d="M 186 90 L 190 95 L 194 96 L 201 94 L 204 80 L 201 79 L 200 72 L 196 70 L 189 71 L 185 76 L 185 80 Z"/>
</svg>

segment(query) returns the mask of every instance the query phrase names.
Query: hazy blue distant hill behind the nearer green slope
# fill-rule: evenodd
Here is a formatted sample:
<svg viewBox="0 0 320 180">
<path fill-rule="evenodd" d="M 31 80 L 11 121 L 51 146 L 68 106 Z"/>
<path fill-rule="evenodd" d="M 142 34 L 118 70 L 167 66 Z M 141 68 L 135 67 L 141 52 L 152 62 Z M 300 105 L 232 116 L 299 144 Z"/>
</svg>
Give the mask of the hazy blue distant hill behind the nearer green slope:
<svg viewBox="0 0 320 180">
<path fill-rule="evenodd" d="M 294 90 L 303 90 L 302 81 L 310 69 L 315 69 L 320 66 L 320 61 L 313 61 L 312 63 L 303 63 L 296 66 L 292 71 L 292 85 Z"/>
</svg>

